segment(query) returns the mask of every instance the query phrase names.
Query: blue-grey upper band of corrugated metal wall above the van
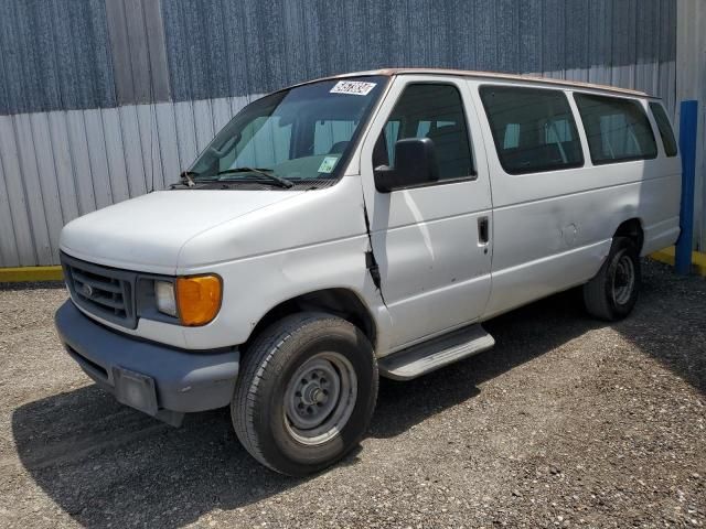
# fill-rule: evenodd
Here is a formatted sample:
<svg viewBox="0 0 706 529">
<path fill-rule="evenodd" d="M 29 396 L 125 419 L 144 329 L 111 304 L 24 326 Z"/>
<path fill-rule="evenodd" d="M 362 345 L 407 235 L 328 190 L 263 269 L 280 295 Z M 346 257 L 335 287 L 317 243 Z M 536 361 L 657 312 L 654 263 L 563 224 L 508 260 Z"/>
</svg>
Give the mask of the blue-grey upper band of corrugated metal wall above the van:
<svg viewBox="0 0 706 529">
<path fill-rule="evenodd" d="M 0 114 L 245 96 L 391 65 L 567 78 L 588 71 L 591 80 L 666 95 L 676 4 L 347 0 L 332 10 L 325 0 L 7 0 Z"/>
</svg>

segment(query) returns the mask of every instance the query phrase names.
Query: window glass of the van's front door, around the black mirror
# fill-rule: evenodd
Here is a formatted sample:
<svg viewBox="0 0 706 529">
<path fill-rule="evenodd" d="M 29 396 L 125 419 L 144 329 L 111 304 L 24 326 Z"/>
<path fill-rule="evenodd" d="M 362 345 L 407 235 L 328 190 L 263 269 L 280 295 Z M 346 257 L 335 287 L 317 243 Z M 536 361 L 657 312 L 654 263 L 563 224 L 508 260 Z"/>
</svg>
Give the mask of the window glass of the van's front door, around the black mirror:
<svg viewBox="0 0 706 529">
<path fill-rule="evenodd" d="M 434 142 L 440 181 L 475 175 L 463 102 L 454 86 L 408 85 L 377 140 L 373 166 L 394 168 L 395 143 L 407 138 Z"/>
</svg>

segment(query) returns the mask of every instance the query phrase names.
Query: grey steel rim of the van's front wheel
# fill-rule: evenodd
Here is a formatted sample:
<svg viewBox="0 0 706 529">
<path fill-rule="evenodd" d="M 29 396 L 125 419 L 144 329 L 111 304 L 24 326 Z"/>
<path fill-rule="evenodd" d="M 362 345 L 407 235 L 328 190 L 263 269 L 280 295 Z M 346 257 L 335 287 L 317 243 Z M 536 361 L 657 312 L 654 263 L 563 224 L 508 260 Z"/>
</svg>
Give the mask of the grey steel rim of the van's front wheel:
<svg viewBox="0 0 706 529">
<path fill-rule="evenodd" d="M 285 391 L 285 424 L 302 444 L 333 439 L 351 418 L 357 377 L 340 353 L 319 353 L 295 373 Z"/>
</svg>

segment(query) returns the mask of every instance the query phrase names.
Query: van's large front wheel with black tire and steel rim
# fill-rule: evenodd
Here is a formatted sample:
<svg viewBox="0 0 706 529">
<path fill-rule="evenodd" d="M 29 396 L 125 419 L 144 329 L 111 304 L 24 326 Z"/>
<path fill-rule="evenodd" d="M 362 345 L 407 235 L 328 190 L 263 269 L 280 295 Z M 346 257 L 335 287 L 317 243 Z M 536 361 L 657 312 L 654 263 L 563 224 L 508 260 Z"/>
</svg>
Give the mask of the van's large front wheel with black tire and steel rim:
<svg viewBox="0 0 706 529">
<path fill-rule="evenodd" d="M 323 313 L 290 315 L 245 352 L 231 402 L 233 427 L 269 468 L 312 474 L 357 445 L 377 385 L 373 347 L 356 326 Z"/>
</svg>

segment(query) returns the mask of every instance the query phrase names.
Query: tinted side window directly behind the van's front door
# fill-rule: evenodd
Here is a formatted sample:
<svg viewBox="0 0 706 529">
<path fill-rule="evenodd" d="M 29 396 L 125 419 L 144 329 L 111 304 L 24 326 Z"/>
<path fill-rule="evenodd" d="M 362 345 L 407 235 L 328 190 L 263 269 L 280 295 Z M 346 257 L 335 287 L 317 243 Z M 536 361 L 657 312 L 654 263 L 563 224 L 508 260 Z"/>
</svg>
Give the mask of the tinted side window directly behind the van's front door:
<svg viewBox="0 0 706 529">
<path fill-rule="evenodd" d="M 537 173 L 584 165 L 576 122 L 563 91 L 483 86 L 480 94 L 505 172 Z"/>
</svg>

